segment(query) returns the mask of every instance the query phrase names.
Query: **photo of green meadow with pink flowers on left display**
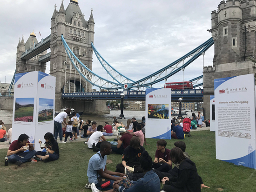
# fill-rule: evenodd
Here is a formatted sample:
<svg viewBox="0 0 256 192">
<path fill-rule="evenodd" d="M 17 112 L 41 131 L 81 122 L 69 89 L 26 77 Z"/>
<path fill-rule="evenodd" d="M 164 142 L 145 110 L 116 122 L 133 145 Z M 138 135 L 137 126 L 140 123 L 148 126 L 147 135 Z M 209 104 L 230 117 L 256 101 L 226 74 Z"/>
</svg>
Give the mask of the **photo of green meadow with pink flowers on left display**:
<svg viewBox="0 0 256 192">
<path fill-rule="evenodd" d="M 16 98 L 14 121 L 33 122 L 34 98 Z"/>
</svg>

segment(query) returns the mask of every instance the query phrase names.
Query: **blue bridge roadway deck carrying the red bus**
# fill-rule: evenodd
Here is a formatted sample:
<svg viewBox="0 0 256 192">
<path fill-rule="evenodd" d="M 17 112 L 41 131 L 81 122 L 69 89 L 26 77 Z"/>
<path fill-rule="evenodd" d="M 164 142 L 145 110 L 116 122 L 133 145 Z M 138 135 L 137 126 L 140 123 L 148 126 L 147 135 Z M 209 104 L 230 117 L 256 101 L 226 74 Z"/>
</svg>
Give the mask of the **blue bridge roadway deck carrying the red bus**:
<svg viewBox="0 0 256 192">
<path fill-rule="evenodd" d="M 126 100 L 145 100 L 146 91 L 123 92 L 94 92 L 94 93 L 62 93 L 62 99 L 87 99 L 87 100 L 121 100 L 120 94 L 124 93 Z M 182 98 L 183 102 L 203 102 L 203 89 L 172 90 L 172 101 Z"/>
</svg>

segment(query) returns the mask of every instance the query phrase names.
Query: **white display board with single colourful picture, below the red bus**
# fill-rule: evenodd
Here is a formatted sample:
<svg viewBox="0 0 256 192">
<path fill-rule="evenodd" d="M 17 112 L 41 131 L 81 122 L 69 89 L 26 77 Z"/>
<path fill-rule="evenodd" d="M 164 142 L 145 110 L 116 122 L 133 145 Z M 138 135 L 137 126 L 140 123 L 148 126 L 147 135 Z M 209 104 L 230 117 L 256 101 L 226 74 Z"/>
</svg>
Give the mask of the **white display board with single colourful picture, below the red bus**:
<svg viewBox="0 0 256 192">
<path fill-rule="evenodd" d="M 171 139 L 171 89 L 146 89 L 146 138 Z"/>
</svg>

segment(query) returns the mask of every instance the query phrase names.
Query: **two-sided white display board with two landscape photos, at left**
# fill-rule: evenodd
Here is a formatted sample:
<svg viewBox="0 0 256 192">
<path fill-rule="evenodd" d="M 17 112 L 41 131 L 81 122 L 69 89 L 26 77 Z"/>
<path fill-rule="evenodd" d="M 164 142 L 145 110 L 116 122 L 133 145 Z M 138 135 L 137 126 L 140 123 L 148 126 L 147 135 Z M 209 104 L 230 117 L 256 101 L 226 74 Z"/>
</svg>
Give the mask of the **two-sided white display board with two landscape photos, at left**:
<svg viewBox="0 0 256 192">
<path fill-rule="evenodd" d="M 55 81 L 38 71 L 15 74 L 12 141 L 25 133 L 39 151 L 38 139 L 54 132 Z"/>
</svg>

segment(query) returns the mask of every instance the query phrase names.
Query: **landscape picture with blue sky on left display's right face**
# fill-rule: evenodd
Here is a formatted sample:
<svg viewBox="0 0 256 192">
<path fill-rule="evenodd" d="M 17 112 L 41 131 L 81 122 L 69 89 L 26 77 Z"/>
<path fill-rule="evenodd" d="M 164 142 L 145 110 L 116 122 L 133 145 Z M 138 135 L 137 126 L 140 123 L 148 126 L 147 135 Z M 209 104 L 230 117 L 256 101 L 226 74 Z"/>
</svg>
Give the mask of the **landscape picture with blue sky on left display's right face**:
<svg viewBox="0 0 256 192">
<path fill-rule="evenodd" d="M 54 99 L 39 98 L 38 122 L 54 119 Z"/>
</svg>

